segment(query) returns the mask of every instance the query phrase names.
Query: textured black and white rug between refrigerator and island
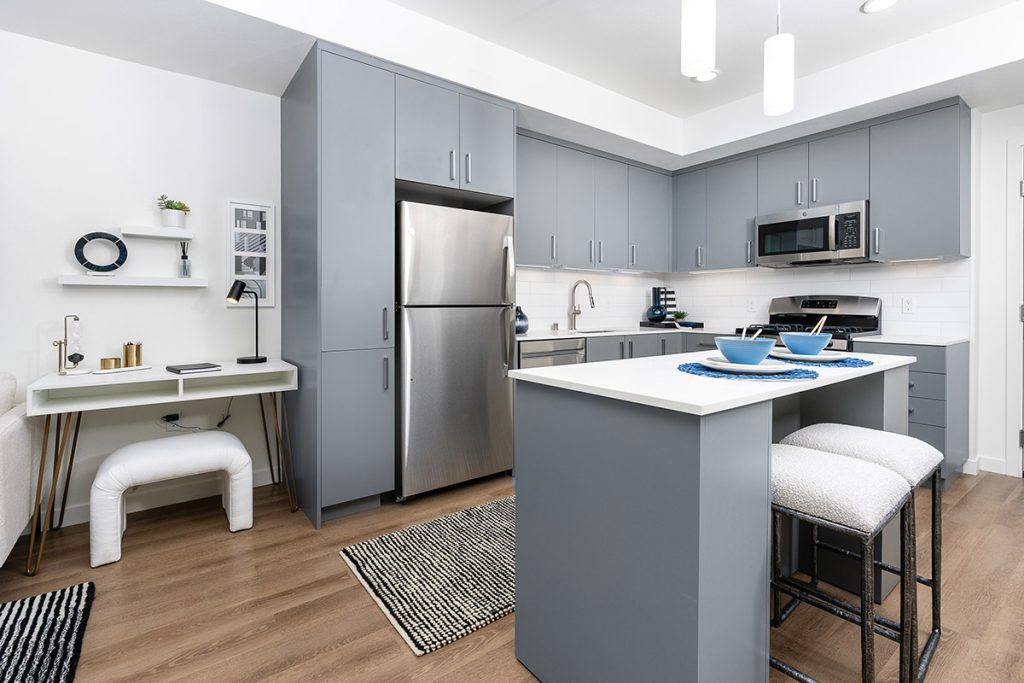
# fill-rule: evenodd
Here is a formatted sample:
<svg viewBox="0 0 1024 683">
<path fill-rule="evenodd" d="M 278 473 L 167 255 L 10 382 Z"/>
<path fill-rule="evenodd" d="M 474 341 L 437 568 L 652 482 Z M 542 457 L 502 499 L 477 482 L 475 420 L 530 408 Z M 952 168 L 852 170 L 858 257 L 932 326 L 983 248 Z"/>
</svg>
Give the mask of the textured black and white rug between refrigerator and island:
<svg viewBox="0 0 1024 683">
<path fill-rule="evenodd" d="M 416 654 L 515 609 L 515 498 L 494 501 L 341 551 Z"/>
</svg>

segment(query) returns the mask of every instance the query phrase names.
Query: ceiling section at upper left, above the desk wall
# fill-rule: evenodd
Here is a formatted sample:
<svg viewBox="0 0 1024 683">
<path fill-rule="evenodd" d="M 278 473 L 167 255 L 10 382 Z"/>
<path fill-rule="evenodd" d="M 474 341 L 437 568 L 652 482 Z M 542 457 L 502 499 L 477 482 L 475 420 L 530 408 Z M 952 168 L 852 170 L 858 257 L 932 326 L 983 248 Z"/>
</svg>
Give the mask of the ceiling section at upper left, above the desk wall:
<svg viewBox="0 0 1024 683">
<path fill-rule="evenodd" d="M 273 95 L 313 43 L 203 0 L 0 0 L 0 30 Z"/>
</svg>

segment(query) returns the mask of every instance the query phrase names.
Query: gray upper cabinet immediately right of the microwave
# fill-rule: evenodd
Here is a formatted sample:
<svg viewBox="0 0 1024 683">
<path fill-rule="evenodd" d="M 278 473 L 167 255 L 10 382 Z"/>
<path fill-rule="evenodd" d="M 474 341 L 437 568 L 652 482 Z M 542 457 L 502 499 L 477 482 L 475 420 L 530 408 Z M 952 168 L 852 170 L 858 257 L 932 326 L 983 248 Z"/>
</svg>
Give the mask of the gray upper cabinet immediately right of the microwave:
<svg viewBox="0 0 1024 683">
<path fill-rule="evenodd" d="M 871 126 L 872 258 L 970 255 L 970 145 L 963 102 Z"/>
</svg>

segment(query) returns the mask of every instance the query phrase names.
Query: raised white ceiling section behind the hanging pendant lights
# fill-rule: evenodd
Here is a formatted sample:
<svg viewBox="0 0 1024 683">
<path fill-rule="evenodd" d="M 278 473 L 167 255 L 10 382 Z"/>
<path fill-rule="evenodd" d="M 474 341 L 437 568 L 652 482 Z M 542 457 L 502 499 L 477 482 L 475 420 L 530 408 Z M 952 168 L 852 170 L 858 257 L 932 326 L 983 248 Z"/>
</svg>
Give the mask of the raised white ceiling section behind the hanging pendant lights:
<svg viewBox="0 0 1024 683">
<path fill-rule="evenodd" d="M 1013 1 L 902 0 L 867 15 L 861 0 L 783 0 L 782 31 L 797 36 L 801 77 Z M 392 2 L 678 117 L 760 92 L 775 31 L 773 0 L 718 0 L 721 75 L 694 83 L 679 73 L 679 0 Z"/>
</svg>

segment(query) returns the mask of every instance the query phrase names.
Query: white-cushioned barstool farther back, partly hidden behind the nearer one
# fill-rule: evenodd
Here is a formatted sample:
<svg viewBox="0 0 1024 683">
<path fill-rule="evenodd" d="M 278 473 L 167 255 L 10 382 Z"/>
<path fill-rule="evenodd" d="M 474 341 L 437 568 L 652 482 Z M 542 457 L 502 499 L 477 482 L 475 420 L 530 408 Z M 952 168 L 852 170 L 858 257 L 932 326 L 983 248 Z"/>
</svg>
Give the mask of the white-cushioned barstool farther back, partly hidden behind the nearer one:
<svg viewBox="0 0 1024 683">
<path fill-rule="evenodd" d="M 914 575 L 919 584 L 929 587 L 932 591 L 932 629 L 924 648 L 920 651 L 918 649 L 916 628 L 914 628 L 911 638 L 914 656 L 913 666 L 918 670 L 919 677 L 924 678 L 942 634 L 940 613 L 942 607 L 942 454 L 925 441 L 905 434 L 895 434 L 879 429 L 833 423 L 821 423 L 804 427 L 783 438 L 782 443 L 816 449 L 881 465 L 899 474 L 910 484 L 911 498 L 913 497 L 913 489 L 924 485 L 925 482 L 931 479 L 932 575 L 931 578 L 925 578 L 918 574 L 916 558 L 914 558 Z M 910 524 L 914 532 L 916 532 L 916 520 L 914 519 L 914 507 L 912 505 L 909 506 L 909 512 Z M 816 538 L 814 539 L 814 552 L 817 552 L 818 547 L 833 552 L 837 551 L 836 548 L 827 544 L 819 544 Z M 887 571 L 898 572 L 896 567 L 886 565 L 882 562 L 877 563 Z M 914 593 L 913 608 L 913 622 L 916 627 L 916 593 Z"/>
</svg>

